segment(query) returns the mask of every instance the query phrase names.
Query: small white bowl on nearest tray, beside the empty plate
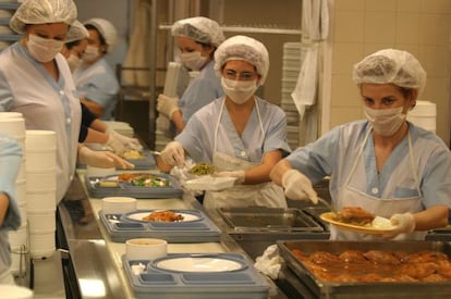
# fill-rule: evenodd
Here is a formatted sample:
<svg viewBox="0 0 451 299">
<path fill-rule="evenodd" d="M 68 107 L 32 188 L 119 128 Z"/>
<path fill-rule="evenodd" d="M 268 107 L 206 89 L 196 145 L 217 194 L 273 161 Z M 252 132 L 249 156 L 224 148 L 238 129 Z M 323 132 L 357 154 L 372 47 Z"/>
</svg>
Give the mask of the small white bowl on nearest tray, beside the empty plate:
<svg viewBox="0 0 451 299">
<path fill-rule="evenodd" d="M 129 260 L 156 260 L 168 254 L 168 242 L 163 239 L 137 238 L 125 241 Z"/>
</svg>

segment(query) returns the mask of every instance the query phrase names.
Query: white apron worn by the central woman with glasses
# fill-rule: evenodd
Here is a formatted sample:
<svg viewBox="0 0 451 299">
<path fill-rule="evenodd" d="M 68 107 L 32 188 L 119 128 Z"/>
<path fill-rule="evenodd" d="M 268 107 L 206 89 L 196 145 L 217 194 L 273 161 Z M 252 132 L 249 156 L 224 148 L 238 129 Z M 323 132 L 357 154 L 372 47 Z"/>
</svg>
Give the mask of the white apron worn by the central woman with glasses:
<svg viewBox="0 0 451 299">
<path fill-rule="evenodd" d="M 218 121 L 216 123 L 212 164 L 215 166 L 215 170 L 219 172 L 241 170 L 246 171 L 255 166 L 256 163 L 252 163 L 240 158 L 231 157 L 229 154 L 218 152 L 216 150 L 219 124 L 221 122 L 224 102 L 226 100 L 222 101 Z M 257 111 L 261 133 L 265 135 L 265 129 L 261 123 L 261 116 L 257 101 L 255 101 L 255 108 Z M 204 207 L 206 210 L 214 210 L 221 207 L 244 208 L 253 205 L 261 205 L 268 208 L 287 208 L 287 201 L 283 195 L 283 189 L 273 184 L 272 182 L 268 182 L 256 185 L 236 185 L 230 189 L 222 191 L 205 192 Z"/>
</svg>

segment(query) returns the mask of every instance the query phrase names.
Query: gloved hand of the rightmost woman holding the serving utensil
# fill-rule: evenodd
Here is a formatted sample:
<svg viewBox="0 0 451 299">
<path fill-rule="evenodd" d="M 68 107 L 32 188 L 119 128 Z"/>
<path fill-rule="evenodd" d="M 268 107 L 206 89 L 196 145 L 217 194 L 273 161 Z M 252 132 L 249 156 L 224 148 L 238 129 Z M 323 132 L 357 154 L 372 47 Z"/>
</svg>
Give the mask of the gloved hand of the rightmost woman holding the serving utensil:
<svg viewBox="0 0 451 299">
<path fill-rule="evenodd" d="M 295 170 L 289 170 L 282 176 L 282 187 L 285 196 L 294 200 L 310 200 L 318 203 L 318 195 L 312 186 L 312 182 Z"/>
</svg>

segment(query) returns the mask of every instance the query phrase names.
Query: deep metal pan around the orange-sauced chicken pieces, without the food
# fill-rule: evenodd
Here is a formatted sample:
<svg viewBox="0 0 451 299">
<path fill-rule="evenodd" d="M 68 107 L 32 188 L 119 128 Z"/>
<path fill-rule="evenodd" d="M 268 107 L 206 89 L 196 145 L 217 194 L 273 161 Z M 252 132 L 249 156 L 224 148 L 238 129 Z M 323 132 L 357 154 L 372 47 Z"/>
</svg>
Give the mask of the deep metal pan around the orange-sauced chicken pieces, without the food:
<svg viewBox="0 0 451 299">
<path fill-rule="evenodd" d="M 291 252 L 298 249 L 305 253 L 327 251 L 341 253 L 345 250 L 405 251 L 410 253 L 435 250 L 450 257 L 451 244 L 441 241 L 277 241 L 284 266 L 291 270 L 298 283 L 308 289 L 306 298 L 450 298 L 451 282 L 412 283 L 332 283 L 317 279 Z M 283 267 L 282 267 L 283 269 Z M 300 291 L 300 294 L 303 294 Z"/>
</svg>

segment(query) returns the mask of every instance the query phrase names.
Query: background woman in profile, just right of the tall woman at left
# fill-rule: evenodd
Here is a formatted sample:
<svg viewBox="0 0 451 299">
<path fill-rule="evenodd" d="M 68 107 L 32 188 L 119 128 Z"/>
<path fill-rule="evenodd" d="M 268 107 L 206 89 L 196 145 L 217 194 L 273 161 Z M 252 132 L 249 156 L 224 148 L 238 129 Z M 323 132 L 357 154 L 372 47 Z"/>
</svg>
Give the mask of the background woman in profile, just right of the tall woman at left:
<svg viewBox="0 0 451 299">
<path fill-rule="evenodd" d="M 84 23 L 89 33 L 82 64 L 73 72 L 82 102 L 99 119 L 111 121 L 118 102 L 119 83 L 105 60 L 115 46 L 118 34 L 105 18 L 90 18 Z"/>
</svg>

